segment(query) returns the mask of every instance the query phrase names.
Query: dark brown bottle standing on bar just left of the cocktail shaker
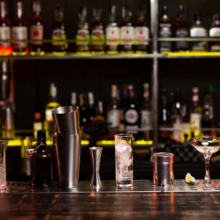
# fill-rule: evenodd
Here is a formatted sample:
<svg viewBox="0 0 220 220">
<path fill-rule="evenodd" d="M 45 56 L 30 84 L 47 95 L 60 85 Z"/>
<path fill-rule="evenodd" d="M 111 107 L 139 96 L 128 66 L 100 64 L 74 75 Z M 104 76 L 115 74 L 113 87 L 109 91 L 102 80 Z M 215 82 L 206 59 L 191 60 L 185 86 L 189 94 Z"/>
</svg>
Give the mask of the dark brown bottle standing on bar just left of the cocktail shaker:
<svg viewBox="0 0 220 220">
<path fill-rule="evenodd" d="M 37 146 L 32 154 L 32 185 L 50 188 L 52 185 L 52 156 L 47 150 L 46 132 L 37 132 Z"/>
</svg>

